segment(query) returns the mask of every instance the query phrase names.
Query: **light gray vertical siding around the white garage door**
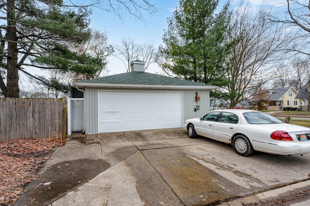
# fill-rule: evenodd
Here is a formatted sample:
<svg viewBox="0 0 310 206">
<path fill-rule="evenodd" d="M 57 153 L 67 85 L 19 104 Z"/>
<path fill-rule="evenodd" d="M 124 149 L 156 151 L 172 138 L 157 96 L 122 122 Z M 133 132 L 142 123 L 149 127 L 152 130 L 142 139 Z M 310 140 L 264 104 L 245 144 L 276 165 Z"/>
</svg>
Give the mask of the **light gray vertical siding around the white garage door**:
<svg viewBox="0 0 310 206">
<path fill-rule="evenodd" d="M 182 89 L 127 89 L 127 88 L 85 88 L 85 133 L 98 132 L 98 90 L 117 91 L 177 91 L 183 93 L 183 121 L 188 118 L 202 117 L 210 111 L 209 90 L 182 90 Z M 200 95 L 200 109 L 194 112 L 195 92 Z"/>
</svg>

